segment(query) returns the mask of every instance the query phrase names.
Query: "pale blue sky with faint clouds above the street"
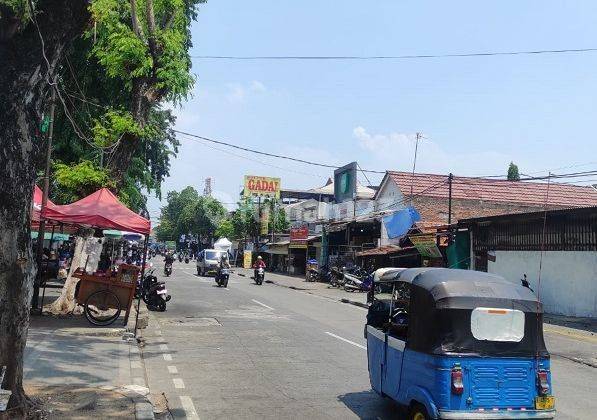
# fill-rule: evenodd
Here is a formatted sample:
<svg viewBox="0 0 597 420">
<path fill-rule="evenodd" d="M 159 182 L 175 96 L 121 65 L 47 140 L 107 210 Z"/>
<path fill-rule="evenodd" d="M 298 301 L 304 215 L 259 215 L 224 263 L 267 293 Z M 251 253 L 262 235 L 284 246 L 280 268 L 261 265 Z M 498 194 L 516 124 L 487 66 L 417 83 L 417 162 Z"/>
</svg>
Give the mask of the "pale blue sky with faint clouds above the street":
<svg viewBox="0 0 597 420">
<path fill-rule="evenodd" d="M 407 55 L 597 47 L 595 1 L 212 0 L 192 55 Z M 597 161 L 597 52 L 396 61 L 193 59 L 197 83 L 177 128 L 308 160 L 376 170 L 495 175 Z M 164 191 L 234 202 L 244 174 L 310 188 L 331 175 L 231 155 L 181 137 Z M 221 147 L 218 147 L 221 148 Z M 591 169 L 597 163 L 576 166 Z M 379 176 L 369 176 L 372 182 Z M 364 178 L 362 182 L 365 182 Z M 149 209 L 157 215 L 160 203 Z"/>
</svg>

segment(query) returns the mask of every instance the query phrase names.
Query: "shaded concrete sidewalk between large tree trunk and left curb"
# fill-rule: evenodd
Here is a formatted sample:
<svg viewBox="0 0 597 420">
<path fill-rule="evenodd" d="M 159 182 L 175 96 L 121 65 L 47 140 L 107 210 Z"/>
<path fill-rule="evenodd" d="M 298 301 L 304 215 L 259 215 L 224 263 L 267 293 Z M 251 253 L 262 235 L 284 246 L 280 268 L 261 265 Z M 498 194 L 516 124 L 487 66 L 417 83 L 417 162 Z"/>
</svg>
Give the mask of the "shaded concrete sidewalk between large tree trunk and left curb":
<svg viewBox="0 0 597 420">
<path fill-rule="evenodd" d="M 131 318 L 134 322 L 134 311 Z M 84 316 L 32 315 L 24 383 L 46 394 L 55 389 L 59 394 L 76 390 L 94 395 L 86 398 L 93 400 L 91 406 L 97 410 L 110 405 L 106 395 L 118 395 L 129 401 L 135 418 L 154 418 L 137 340 L 131 338 L 121 320 L 102 328 L 92 326 Z M 86 414 L 101 417 L 93 411 Z"/>
</svg>

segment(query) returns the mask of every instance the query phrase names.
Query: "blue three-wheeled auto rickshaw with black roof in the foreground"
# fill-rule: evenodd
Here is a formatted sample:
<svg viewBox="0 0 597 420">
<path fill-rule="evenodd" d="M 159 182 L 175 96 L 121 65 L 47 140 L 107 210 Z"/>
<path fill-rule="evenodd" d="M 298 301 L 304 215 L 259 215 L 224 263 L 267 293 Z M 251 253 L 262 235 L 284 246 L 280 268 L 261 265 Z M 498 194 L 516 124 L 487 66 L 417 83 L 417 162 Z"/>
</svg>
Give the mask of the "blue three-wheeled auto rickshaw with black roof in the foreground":
<svg viewBox="0 0 597 420">
<path fill-rule="evenodd" d="M 392 293 L 373 296 L 367 314 L 371 387 L 408 418 L 554 417 L 543 310 L 530 289 L 444 268 L 386 272 L 378 281 Z"/>
</svg>

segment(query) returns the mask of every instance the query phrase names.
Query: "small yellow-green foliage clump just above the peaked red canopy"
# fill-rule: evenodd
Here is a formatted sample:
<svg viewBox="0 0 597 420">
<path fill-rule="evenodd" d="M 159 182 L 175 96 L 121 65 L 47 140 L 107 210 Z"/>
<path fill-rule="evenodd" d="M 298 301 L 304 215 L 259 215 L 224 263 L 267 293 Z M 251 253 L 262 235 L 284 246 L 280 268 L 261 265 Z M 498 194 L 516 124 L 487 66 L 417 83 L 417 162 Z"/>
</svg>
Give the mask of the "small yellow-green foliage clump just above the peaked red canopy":
<svg viewBox="0 0 597 420">
<path fill-rule="evenodd" d="M 83 160 L 76 165 L 54 164 L 53 199 L 57 204 L 77 201 L 102 187 L 114 188 L 108 171 Z"/>
</svg>

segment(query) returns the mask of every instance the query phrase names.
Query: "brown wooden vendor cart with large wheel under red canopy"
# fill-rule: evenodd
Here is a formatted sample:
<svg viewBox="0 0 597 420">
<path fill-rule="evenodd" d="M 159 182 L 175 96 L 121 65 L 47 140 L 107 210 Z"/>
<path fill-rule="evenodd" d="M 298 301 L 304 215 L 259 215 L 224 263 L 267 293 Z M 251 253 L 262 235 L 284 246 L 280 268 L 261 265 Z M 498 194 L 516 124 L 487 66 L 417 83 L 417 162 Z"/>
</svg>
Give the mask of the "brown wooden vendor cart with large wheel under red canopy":
<svg viewBox="0 0 597 420">
<path fill-rule="evenodd" d="M 128 322 L 140 268 L 123 264 L 115 275 L 111 273 L 88 274 L 77 269 L 73 277 L 79 280 L 75 299 L 84 307 L 85 317 L 94 325 L 112 324 L 125 310 L 124 325 Z"/>
</svg>

